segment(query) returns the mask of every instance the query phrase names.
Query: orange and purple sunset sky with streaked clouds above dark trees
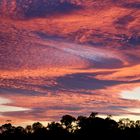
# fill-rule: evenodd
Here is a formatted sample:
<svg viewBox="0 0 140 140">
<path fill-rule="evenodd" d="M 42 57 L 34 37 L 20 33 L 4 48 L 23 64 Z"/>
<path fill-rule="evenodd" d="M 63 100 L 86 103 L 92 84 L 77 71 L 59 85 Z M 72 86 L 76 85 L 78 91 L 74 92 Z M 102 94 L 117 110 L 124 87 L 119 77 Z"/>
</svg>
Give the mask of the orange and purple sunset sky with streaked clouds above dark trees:
<svg viewBox="0 0 140 140">
<path fill-rule="evenodd" d="M 139 0 L 1 0 L 0 123 L 140 119 L 139 9 Z"/>
</svg>

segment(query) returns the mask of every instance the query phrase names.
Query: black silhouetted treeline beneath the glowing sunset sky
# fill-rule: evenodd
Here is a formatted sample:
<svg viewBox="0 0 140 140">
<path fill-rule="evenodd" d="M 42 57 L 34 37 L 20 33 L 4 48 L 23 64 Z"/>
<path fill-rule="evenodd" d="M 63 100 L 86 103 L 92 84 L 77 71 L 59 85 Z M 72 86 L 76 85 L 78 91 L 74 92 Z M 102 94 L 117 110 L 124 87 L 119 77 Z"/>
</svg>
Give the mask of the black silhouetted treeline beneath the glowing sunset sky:
<svg viewBox="0 0 140 140">
<path fill-rule="evenodd" d="M 77 118 L 64 115 L 60 122 L 43 126 L 40 122 L 21 126 L 7 123 L 0 126 L 0 140 L 136 140 L 140 138 L 140 120 L 120 119 L 116 122 L 91 113 L 89 117 Z"/>
</svg>

